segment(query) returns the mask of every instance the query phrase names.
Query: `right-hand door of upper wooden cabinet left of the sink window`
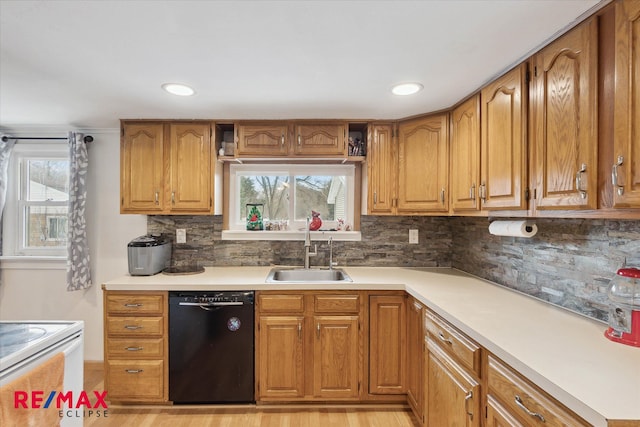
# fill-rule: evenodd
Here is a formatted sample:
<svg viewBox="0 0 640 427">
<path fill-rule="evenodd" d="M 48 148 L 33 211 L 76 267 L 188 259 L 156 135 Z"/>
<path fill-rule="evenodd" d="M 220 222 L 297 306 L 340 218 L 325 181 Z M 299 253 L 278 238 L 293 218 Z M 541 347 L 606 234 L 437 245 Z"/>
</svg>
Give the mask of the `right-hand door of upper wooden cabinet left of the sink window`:
<svg viewBox="0 0 640 427">
<path fill-rule="evenodd" d="M 171 124 L 171 211 L 213 212 L 211 126 Z"/>
</svg>

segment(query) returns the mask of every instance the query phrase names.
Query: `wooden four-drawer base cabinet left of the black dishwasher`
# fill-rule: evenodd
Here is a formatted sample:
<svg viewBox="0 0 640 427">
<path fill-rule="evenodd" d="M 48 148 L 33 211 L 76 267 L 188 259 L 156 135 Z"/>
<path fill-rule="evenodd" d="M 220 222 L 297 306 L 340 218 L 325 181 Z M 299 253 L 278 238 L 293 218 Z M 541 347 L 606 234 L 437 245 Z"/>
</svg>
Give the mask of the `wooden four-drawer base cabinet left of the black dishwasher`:
<svg viewBox="0 0 640 427">
<path fill-rule="evenodd" d="M 166 292 L 104 292 L 105 390 L 112 402 L 167 402 Z"/>
</svg>

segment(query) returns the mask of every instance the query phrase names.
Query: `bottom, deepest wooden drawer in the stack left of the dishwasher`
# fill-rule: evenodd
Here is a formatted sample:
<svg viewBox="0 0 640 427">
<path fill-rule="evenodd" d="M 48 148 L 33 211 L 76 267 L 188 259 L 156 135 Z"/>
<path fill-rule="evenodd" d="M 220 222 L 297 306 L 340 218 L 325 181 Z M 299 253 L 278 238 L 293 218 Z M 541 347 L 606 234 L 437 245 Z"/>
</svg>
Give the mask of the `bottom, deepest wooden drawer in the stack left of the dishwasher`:
<svg viewBox="0 0 640 427">
<path fill-rule="evenodd" d="M 162 360 L 110 360 L 107 366 L 111 400 L 164 400 Z"/>
</svg>

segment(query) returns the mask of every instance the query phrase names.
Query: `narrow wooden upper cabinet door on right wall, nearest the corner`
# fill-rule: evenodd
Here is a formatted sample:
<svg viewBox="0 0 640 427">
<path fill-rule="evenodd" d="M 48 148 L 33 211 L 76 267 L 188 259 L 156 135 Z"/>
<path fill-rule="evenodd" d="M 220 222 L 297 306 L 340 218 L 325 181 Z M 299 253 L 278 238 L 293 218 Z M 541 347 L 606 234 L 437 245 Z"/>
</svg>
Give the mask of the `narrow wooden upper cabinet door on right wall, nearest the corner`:
<svg viewBox="0 0 640 427">
<path fill-rule="evenodd" d="M 465 101 L 451 116 L 451 210 L 477 211 L 480 182 L 480 96 Z"/>
</svg>

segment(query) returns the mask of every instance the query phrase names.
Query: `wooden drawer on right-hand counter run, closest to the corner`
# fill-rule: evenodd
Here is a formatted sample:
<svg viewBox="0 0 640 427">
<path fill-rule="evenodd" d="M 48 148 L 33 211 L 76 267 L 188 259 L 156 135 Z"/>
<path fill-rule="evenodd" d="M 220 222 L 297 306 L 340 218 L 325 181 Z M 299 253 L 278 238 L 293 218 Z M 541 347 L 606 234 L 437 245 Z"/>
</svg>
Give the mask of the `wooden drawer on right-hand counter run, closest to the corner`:
<svg viewBox="0 0 640 427">
<path fill-rule="evenodd" d="M 425 328 L 462 365 L 480 376 L 481 359 L 478 344 L 430 312 L 425 316 Z"/>
</svg>

